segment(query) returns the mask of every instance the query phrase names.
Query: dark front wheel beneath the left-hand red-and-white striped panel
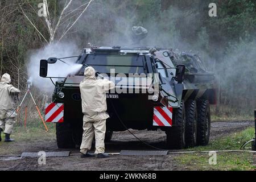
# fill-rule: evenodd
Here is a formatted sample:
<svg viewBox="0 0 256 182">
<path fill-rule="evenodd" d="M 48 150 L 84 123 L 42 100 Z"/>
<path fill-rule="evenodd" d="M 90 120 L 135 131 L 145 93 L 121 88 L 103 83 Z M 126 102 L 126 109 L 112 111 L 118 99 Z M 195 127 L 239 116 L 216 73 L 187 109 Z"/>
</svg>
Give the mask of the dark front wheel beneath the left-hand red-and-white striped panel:
<svg viewBox="0 0 256 182">
<path fill-rule="evenodd" d="M 72 129 L 69 123 L 56 123 L 56 138 L 59 148 L 75 148 Z"/>
</svg>

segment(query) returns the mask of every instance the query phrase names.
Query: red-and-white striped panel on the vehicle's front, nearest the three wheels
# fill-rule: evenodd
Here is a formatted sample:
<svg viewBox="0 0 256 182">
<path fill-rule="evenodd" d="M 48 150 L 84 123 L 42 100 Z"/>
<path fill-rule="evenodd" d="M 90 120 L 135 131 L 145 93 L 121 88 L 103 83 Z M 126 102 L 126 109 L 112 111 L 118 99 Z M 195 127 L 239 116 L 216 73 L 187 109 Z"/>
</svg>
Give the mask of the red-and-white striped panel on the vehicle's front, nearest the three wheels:
<svg viewBox="0 0 256 182">
<path fill-rule="evenodd" d="M 172 107 L 154 107 L 153 126 L 172 126 Z"/>
</svg>

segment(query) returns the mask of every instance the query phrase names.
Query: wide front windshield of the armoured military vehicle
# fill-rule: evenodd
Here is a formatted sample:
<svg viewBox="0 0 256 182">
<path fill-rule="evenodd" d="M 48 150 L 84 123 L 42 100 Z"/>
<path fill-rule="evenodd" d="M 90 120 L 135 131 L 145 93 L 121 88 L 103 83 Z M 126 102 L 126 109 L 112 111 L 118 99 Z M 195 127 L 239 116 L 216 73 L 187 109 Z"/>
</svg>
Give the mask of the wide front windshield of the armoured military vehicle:
<svg viewBox="0 0 256 182">
<path fill-rule="evenodd" d="M 97 72 L 110 73 L 110 69 L 115 69 L 115 73 L 144 73 L 144 56 L 134 55 L 88 55 L 84 64 L 93 67 Z M 79 75 L 82 75 L 81 70 Z"/>
</svg>

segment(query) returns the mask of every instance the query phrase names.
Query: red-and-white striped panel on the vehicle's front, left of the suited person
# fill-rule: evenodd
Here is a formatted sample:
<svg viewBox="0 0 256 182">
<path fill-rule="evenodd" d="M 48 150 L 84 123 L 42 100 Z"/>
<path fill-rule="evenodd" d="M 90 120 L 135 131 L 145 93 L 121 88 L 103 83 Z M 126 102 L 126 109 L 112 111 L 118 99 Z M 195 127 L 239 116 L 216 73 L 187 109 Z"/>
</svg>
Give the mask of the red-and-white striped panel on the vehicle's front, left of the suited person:
<svg viewBox="0 0 256 182">
<path fill-rule="evenodd" d="M 64 104 L 47 103 L 46 104 L 46 122 L 62 123 L 64 122 Z"/>
</svg>

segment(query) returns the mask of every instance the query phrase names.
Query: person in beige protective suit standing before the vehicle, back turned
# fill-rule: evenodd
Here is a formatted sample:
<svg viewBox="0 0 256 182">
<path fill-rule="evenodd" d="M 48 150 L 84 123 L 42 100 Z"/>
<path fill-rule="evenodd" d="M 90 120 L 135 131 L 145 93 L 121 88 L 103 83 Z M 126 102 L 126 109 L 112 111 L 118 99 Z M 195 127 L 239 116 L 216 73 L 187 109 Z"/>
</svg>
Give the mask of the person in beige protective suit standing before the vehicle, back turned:
<svg viewBox="0 0 256 182">
<path fill-rule="evenodd" d="M 105 154 L 105 133 L 106 119 L 109 114 L 106 113 L 106 91 L 115 88 L 112 81 L 106 79 L 97 79 L 96 71 L 92 67 L 85 68 L 84 80 L 80 83 L 80 92 L 82 98 L 82 113 L 84 114 L 84 133 L 80 147 L 81 158 L 94 157 L 106 158 Z M 95 155 L 88 151 L 92 147 L 95 135 Z"/>
</svg>

